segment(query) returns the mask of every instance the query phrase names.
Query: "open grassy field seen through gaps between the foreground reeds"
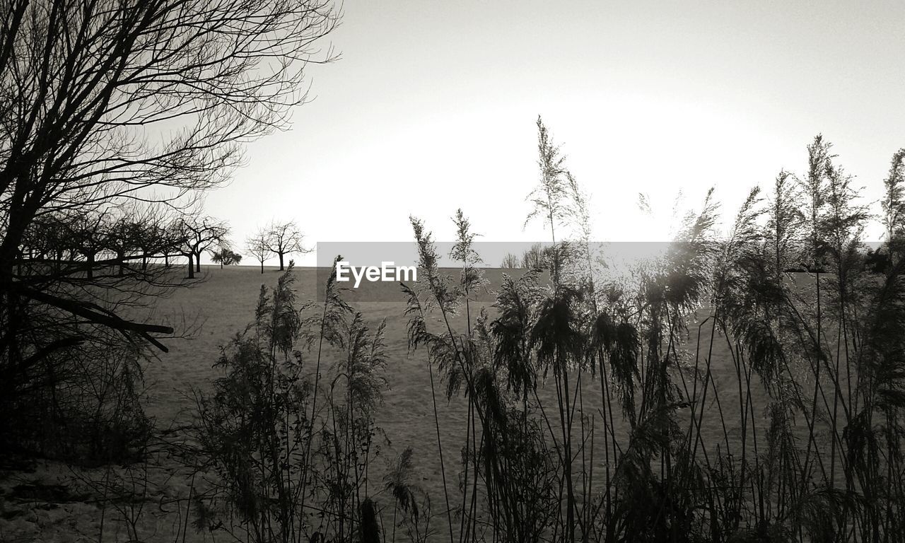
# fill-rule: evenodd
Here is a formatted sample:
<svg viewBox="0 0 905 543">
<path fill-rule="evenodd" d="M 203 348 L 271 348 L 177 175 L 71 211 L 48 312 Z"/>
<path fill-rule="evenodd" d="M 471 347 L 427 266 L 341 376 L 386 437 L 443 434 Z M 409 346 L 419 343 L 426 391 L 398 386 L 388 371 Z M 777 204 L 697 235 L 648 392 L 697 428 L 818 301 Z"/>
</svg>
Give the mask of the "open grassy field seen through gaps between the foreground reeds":
<svg viewBox="0 0 905 543">
<path fill-rule="evenodd" d="M 456 274 L 456 270 L 446 270 Z M 510 271 L 512 272 L 512 271 Z M 298 277 L 297 291 L 300 300 L 316 300 L 317 281 L 324 275 L 313 268 L 295 270 Z M 492 291 L 500 284 L 503 271 L 490 269 L 485 277 L 490 281 L 489 292 L 477 296 L 472 301 L 472 319 L 481 309 L 487 310 L 491 319 L 495 315 L 492 307 Z M 520 271 L 514 271 L 519 274 Z M 159 355 L 158 363 L 148 367 L 146 380 L 148 383 L 148 414 L 157 417 L 157 424 L 167 426 L 183 424 L 185 418 L 195 408 L 190 394 L 190 387 L 205 390 L 212 380 L 220 376 L 220 372 L 212 365 L 220 353 L 220 346 L 236 332 L 241 331 L 253 317 L 260 288 L 266 285 L 272 288 L 280 276 L 275 268 L 265 269 L 265 273 L 251 266 L 224 268 L 214 266 L 205 268 L 205 282 L 195 288 L 178 291 L 166 300 L 161 300 L 158 311 L 163 315 L 185 313 L 194 319 L 195 312 L 200 318 L 201 329 L 194 338 L 176 338 L 167 340 L 169 353 Z M 384 393 L 384 405 L 380 406 L 376 415 L 376 424 L 386 432 L 388 442 L 384 454 L 392 456 L 411 446 L 415 452 L 415 462 L 421 472 L 426 490 L 437 499 L 442 496 L 439 484 L 440 462 L 437 454 L 436 433 L 433 421 L 433 401 L 431 397 L 430 375 L 426 366 L 424 350 L 411 352 L 406 338 L 407 318 L 404 315 L 405 300 L 398 285 L 386 283 L 363 283 L 365 289 L 381 289 L 389 291 L 380 298 L 396 297 L 396 301 L 360 301 L 356 298 L 371 300 L 376 298 L 373 292 L 347 291 L 345 298 L 353 309 L 360 311 L 374 329 L 382 319 L 386 319 L 386 344 L 389 362 L 386 367 L 388 389 Z M 322 289 L 322 287 L 321 287 Z M 463 329 L 465 325 L 464 311 L 452 319 L 452 326 Z M 687 344 L 682 346 L 686 351 L 693 350 L 697 341 L 697 326 L 689 327 Z M 710 328 L 702 331 L 703 342 L 710 338 Z M 329 353 L 324 362 L 322 374 L 329 372 L 331 364 L 336 362 L 336 353 Z M 691 354 L 689 355 L 691 356 Z M 738 402 L 738 380 L 735 367 L 731 364 L 724 341 L 714 342 L 712 358 L 714 360 L 712 378 L 719 391 L 722 402 Z M 703 362 L 702 362 L 703 364 Z M 447 402 L 443 395 L 444 386 L 437 380 L 437 414 L 440 421 L 441 439 L 447 451 L 455 452 L 462 446 L 466 417 L 465 401 L 455 396 Z M 556 394 L 551 386 L 545 386 L 539 395 L 544 405 L 556 405 Z M 599 417 L 601 407 L 601 391 L 596 377 L 585 376 L 583 379 L 584 413 Z M 716 408 L 713 405 L 714 409 Z M 731 408 L 731 407 L 727 407 Z M 619 421 L 616 421 L 617 424 Z M 736 421 L 730 421 L 736 422 Z M 622 424 L 625 431 L 627 424 Z M 619 428 L 617 427 L 617 432 Z M 738 427 L 727 427 L 729 438 L 738 436 Z M 722 426 L 719 421 L 712 421 L 705 415 L 704 441 L 714 446 L 723 441 Z M 733 442 L 734 443 L 734 442 Z M 462 466 L 457 453 L 446 452 L 446 472 L 458 473 Z M 377 462 L 379 465 L 380 462 Z M 452 491 L 452 489 L 451 489 Z"/>
</svg>

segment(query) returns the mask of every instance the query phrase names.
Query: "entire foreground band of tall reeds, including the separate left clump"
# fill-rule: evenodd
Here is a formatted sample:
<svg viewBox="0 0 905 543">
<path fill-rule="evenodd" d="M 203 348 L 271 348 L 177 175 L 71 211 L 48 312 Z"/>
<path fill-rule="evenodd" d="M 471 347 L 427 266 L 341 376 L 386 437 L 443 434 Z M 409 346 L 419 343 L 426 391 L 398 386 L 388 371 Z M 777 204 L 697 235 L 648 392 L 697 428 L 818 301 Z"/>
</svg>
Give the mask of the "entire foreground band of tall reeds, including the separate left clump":
<svg viewBox="0 0 905 543">
<path fill-rule="evenodd" d="M 818 137 L 805 174 L 750 191 L 726 233 L 710 191 L 668 251 L 621 277 L 592 254 L 588 200 L 540 119 L 538 157 L 529 219 L 552 247 L 503 276 L 491 311 L 472 303 L 487 285 L 462 211 L 456 274 L 411 219 L 408 345 L 436 443 L 368 481 L 383 327 L 332 279 L 322 305 L 296 309 L 288 272 L 199 396 L 205 466 L 224 481 L 199 503 L 256 541 L 900 540 L 905 153 L 885 183 L 881 274 L 864 258 L 872 216 Z M 328 348 L 342 356 L 321 378 Z M 458 443 L 442 440 L 438 396 L 463 398 Z M 432 512 L 413 466 L 434 446 Z"/>
</svg>

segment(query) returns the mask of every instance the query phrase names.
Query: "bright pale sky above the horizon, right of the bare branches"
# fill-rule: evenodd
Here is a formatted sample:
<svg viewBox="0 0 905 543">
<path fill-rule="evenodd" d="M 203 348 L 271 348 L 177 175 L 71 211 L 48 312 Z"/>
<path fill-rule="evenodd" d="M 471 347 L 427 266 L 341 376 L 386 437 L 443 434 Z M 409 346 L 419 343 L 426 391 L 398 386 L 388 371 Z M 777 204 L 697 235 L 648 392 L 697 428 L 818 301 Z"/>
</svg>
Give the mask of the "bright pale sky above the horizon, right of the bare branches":
<svg viewBox="0 0 905 543">
<path fill-rule="evenodd" d="M 292 129 L 249 146 L 207 196 L 240 250 L 271 219 L 313 245 L 409 241 L 415 214 L 451 240 L 458 207 L 484 241 L 547 241 L 539 221 L 522 230 L 538 115 L 603 241 L 665 239 L 680 189 L 698 207 L 714 186 L 731 218 L 751 186 L 803 172 L 817 133 L 872 202 L 905 147 L 905 2 L 354 0 L 343 13 L 329 36 L 341 58 L 310 68 Z"/>
</svg>

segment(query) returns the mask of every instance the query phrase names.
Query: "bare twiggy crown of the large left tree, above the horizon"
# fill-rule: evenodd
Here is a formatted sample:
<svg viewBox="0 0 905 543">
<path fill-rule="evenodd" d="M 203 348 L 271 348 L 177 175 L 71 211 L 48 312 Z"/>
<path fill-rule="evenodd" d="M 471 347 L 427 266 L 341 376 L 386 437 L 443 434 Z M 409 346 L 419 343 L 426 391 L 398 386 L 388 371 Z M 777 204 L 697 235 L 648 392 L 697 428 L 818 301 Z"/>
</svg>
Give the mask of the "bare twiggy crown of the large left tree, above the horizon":
<svg viewBox="0 0 905 543">
<path fill-rule="evenodd" d="M 317 0 L 13 0 L 0 21 L 9 288 L 39 210 L 123 198 L 182 206 L 222 184 L 239 144 L 286 126 L 305 100 L 303 68 L 336 18 Z M 172 136 L 149 143 L 158 132 Z"/>
</svg>

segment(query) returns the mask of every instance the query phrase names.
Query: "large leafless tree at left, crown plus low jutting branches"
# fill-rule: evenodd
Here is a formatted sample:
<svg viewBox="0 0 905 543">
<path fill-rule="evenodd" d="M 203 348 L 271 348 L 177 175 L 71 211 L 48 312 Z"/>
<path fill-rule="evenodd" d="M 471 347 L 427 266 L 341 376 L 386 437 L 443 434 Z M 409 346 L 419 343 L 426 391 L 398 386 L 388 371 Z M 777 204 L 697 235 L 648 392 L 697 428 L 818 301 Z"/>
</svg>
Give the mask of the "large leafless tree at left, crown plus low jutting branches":
<svg viewBox="0 0 905 543">
<path fill-rule="evenodd" d="M 327 0 L 0 2 L 0 411 L 34 394 L 24 361 L 172 333 L 117 315 L 119 292 L 160 282 L 125 264 L 122 277 L 101 273 L 103 250 L 120 262 L 137 251 L 100 243 L 109 231 L 81 218 L 129 201 L 185 210 L 221 186 L 245 142 L 288 126 L 305 67 L 332 56 L 318 48 L 335 24 Z M 71 265 L 55 271 L 23 262 L 26 233 L 51 215 L 78 226 Z"/>
</svg>

